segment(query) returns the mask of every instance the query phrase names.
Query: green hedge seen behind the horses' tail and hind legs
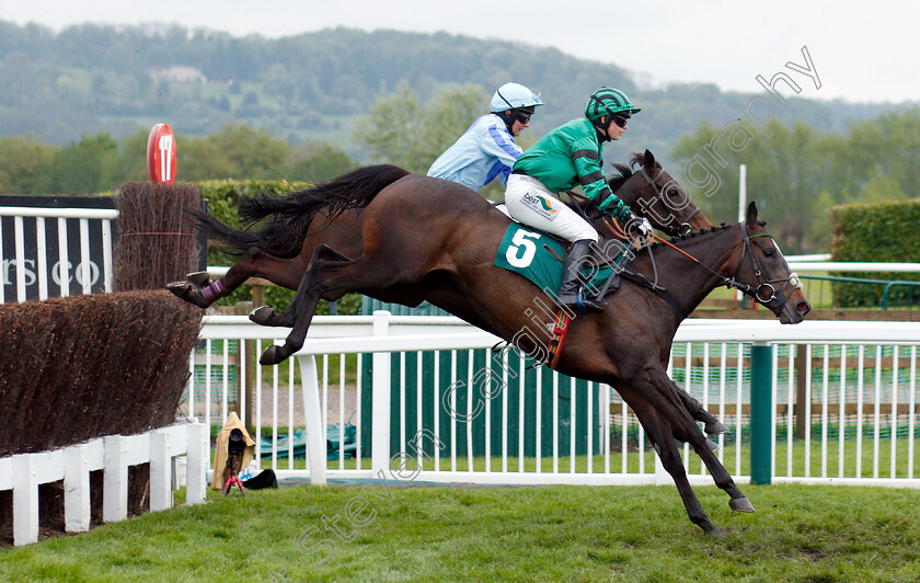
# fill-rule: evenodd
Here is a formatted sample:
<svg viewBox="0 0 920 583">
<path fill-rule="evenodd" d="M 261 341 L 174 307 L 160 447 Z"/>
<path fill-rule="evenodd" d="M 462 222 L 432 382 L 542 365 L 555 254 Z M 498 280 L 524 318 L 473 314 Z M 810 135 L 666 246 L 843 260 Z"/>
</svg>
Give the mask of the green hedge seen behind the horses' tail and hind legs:
<svg viewBox="0 0 920 583">
<path fill-rule="evenodd" d="M 286 182 L 280 180 L 209 180 L 195 183 L 202 191 L 202 196 L 208 202 L 208 212 L 233 227 L 240 227 L 240 218 L 237 207 L 242 196 L 251 196 L 258 192 L 267 192 L 277 195 L 285 195 L 295 191 L 301 191 L 310 186 L 307 182 Z M 218 251 L 208 250 L 208 265 L 229 266 L 235 262 L 234 255 Z M 280 310 L 287 308 L 294 299 L 294 292 L 281 287 L 269 287 L 265 290 L 265 301 Z M 238 301 L 252 300 L 251 286 L 244 285 L 233 292 L 230 296 L 218 301 L 218 306 L 233 306 Z M 338 300 L 338 313 L 359 313 L 361 296 L 348 294 Z M 329 313 L 329 302 L 320 300 L 317 313 Z"/>
</svg>

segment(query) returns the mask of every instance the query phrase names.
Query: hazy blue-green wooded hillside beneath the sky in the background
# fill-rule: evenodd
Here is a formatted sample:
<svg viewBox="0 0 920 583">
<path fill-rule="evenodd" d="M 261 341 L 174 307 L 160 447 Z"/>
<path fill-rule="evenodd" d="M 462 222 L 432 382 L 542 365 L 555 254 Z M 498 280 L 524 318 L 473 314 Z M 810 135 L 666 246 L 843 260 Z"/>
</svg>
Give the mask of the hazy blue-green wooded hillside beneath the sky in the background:
<svg viewBox="0 0 920 583">
<path fill-rule="evenodd" d="M 647 147 L 667 160 L 677 139 L 703 121 L 722 127 L 737 119 L 758 89 L 752 75 L 751 94 L 712 84 L 644 90 L 630 72 L 636 69 L 446 33 L 336 28 L 266 39 L 177 25 L 81 25 L 56 34 L 0 21 L 0 136 L 60 145 L 99 132 L 120 138 L 158 122 L 192 136 L 245 123 L 292 144 L 330 141 L 361 159 L 356 121 L 400 84 L 424 100 L 447 84 L 473 83 L 485 105 L 495 87 L 515 80 L 547 102 L 534 136 L 580 115 L 597 87 L 623 89 L 644 112 L 617 145 L 623 151 L 611 147 L 611 156 Z M 777 117 L 843 130 L 889 108 L 899 107 L 792 99 Z"/>
</svg>

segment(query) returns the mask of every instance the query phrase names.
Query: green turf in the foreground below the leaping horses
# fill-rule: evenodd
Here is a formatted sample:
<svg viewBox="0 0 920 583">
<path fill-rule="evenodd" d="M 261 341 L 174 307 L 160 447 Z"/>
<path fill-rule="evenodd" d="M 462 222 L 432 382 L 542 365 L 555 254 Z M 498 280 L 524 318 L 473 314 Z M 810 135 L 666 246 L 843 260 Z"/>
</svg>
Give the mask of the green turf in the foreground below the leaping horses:
<svg viewBox="0 0 920 583">
<path fill-rule="evenodd" d="M 388 495 L 373 484 L 382 498 L 369 485 L 218 495 L 206 505 L 0 549 L 0 580 L 272 581 L 271 572 L 284 574 L 276 581 L 920 578 L 920 494 L 911 490 L 746 487 L 758 512 L 735 514 L 721 491 L 697 488 L 725 528 L 708 537 L 670 487 L 396 483 Z M 360 499 L 368 505 L 358 512 Z M 347 525 L 346 508 L 365 526 Z M 350 540 L 323 528 L 323 517 L 335 515 Z"/>
</svg>

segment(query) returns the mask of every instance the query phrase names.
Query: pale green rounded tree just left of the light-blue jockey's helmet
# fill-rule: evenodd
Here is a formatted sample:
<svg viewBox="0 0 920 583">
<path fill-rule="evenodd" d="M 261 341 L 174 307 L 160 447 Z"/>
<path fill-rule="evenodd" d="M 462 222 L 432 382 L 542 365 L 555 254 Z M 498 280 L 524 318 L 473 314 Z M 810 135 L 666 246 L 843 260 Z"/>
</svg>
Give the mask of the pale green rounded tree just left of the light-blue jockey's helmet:
<svg viewBox="0 0 920 583">
<path fill-rule="evenodd" d="M 487 112 L 488 95 L 479 85 L 448 88 L 423 105 L 403 84 L 375 103 L 370 118 L 358 124 L 356 140 L 370 149 L 376 162 L 425 174 L 437 157 Z"/>
</svg>

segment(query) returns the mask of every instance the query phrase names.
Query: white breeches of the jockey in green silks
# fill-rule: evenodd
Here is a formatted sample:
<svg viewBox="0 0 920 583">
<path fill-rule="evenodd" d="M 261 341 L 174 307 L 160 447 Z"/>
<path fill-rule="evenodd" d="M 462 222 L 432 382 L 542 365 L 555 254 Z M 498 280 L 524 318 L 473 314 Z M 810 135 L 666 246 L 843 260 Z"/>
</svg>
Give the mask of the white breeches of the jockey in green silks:
<svg viewBox="0 0 920 583">
<path fill-rule="evenodd" d="M 589 239 L 597 242 L 597 231 L 587 220 L 565 206 L 542 182 L 525 174 L 508 176 L 505 206 L 511 218 L 566 241 Z"/>
</svg>

